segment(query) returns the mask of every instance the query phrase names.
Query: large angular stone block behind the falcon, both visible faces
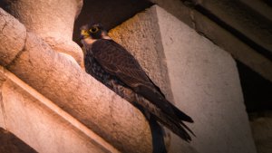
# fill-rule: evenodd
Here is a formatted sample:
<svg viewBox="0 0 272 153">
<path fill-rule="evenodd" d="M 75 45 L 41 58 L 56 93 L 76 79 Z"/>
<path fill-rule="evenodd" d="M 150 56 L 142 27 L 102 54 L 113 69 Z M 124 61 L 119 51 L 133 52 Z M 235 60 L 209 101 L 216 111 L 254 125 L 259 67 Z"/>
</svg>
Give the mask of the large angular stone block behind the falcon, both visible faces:
<svg viewBox="0 0 272 153">
<path fill-rule="evenodd" d="M 151 76 L 158 74 L 154 61 L 160 58 L 157 66 L 166 62 L 168 74 L 151 78 L 170 86 L 174 103 L 195 120 L 189 127 L 197 135 L 191 144 L 172 135 L 170 152 L 256 152 L 236 63 L 227 52 L 157 5 L 110 35 L 131 50 Z M 147 52 L 155 54 L 141 58 Z"/>
</svg>

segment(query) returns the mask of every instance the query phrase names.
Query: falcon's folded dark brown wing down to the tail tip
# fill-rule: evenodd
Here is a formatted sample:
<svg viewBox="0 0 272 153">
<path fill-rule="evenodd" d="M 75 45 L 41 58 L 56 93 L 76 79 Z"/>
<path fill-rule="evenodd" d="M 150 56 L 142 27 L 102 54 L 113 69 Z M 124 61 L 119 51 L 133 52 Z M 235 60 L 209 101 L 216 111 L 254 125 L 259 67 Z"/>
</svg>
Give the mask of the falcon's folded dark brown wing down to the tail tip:
<svg viewBox="0 0 272 153">
<path fill-rule="evenodd" d="M 128 51 L 112 40 L 102 39 L 92 43 L 92 53 L 104 70 L 119 78 L 132 91 L 150 100 L 163 111 L 163 114 L 166 115 L 164 117 L 165 120 L 158 120 L 161 122 L 172 122 L 166 123 L 168 128 L 177 130 L 175 133 L 180 135 L 181 138 L 190 139 L 185 129 L 188 129 L 191 133 L 192 131 L 181 120 L 189 122 L 193 122 L 193 120 L 165 99 L 160 88 L 150 80 L 147 74 L 141 69 L 140 64 Z M 179 133 L 179 129 L 181 133 Z"/>
</svg>

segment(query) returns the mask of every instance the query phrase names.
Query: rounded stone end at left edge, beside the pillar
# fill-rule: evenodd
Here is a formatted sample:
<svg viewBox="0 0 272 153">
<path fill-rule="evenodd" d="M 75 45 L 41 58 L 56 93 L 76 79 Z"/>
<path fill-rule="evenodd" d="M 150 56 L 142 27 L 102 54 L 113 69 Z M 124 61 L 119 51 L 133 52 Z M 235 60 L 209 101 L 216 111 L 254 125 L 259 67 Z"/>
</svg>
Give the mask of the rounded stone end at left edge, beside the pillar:
<svg viewBox="0 0 272 153">
<path fill-rule="evenodd" d="M 0 64 L 5 66 L 23 50 L 26 30 L 23 24 L 2 8 L 0 8 L 0 29 Z"/>
</svg>

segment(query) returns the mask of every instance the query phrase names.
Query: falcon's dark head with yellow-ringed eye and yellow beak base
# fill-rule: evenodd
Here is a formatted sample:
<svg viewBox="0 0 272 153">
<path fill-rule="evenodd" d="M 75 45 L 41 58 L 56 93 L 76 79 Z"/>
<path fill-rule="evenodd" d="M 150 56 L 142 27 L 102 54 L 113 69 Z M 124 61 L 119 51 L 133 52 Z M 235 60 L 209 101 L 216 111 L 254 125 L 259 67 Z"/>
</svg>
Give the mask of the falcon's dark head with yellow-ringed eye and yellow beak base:
<svg viewBox="0 0 272 153">
<path fill-rule="evenodd" d="M 81 27 L 81 40 L 83 39 L 108 39 L 108 33 L 102 24 L 86 24 Z"/>
</svg>

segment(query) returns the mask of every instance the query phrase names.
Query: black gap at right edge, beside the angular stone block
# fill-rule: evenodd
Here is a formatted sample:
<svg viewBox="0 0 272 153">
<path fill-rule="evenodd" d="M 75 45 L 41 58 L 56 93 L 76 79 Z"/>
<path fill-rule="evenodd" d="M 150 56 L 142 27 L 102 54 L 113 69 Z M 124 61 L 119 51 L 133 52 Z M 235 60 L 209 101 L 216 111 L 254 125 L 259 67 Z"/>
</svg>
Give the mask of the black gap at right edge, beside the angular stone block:
<svg viewBox="0 0 272 153">
<path fill-rule="evenodd" d="M 236 62 L 248 113 L 272 110 L 272 82 Z"/>
</svg>

